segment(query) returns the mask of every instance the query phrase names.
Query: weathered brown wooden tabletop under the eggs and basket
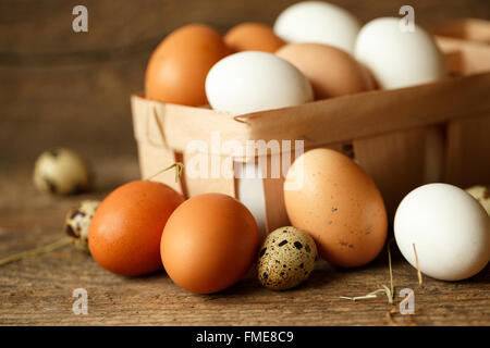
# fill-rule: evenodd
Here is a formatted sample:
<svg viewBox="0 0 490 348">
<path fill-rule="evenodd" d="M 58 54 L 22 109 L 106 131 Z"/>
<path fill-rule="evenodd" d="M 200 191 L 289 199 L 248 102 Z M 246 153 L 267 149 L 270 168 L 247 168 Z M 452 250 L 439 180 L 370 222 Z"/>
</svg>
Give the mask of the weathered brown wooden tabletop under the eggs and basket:
<svg viewBox="0 0 490 348">
<path fill-rule="evenodd" d="M 63 236 L 68 209 L 85 198 L 102 198 L 121 183 L 138 177 L 132 158 L 97 162 L 93 192 L 54 198 L 35 191 L 30 172 L 2 173 L 0 256 L 23 251 Z M 4 176 L 7 174 L 7 176 Z M 395 294 L 415 288 L 416 271 L 393 248 Z M 400 324 L 488 325 L 489 269 L 471 279 L 450 283 L 424 278 L 414 316 L 395 314 Z M 105 271 L 71 246 L 0 269 L 0 325 L 389 325 L 391 306 L 380 296 L 358 302 L 340 296 L 365 295 L 389 285 L 387 254 L 357 270 L 335 270 L 319 262 L 297 289 L 262 288 L 253 271 L 216 295 L 191 294 L 159 272 L 122 277 Z M 72 313 L 72 291 L 88 293 L 88 314 Z M 399 302 L 402 298 L 396 298 Z"/>
</svg>

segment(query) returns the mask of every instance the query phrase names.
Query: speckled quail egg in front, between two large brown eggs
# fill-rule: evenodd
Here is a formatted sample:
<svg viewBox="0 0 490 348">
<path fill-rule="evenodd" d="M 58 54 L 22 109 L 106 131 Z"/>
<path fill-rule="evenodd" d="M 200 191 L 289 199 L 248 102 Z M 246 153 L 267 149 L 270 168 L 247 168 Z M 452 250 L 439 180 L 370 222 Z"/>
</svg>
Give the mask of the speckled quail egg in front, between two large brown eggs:
<svg viewBox="0 0 490 348">
<path fill-rule="evenodd" d="M 306 281 L 315 269 L 317 246 L 305 232 L 281 227 L 270 233 L 260 248 L 257 275 L 273 290 L 285 290 Z"/>
</svg>

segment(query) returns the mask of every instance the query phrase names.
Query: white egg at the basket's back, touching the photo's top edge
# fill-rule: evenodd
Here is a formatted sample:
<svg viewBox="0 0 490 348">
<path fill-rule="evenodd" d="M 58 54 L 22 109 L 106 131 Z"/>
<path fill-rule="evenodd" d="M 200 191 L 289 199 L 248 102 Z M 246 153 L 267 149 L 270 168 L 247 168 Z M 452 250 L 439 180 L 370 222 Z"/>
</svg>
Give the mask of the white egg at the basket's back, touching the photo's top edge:
<svg viewBox="0 0 490 348">
<path fill-rule="evenodd" d="M 348 53 L 360 22 L 346 10 L 322 1 L 304 1 L 285 9 L 274 23 L 274 32 L 289 42 L 330 45 Z"/>
</svg>

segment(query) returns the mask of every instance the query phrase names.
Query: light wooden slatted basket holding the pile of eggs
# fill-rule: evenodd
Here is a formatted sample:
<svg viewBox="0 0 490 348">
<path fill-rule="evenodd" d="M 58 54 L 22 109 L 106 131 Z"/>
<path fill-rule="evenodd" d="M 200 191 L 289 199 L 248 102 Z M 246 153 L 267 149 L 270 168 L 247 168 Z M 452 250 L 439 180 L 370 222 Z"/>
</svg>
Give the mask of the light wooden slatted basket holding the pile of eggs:
<svg viewBox="0 0 490 348">
<path fill-rule="evenodd" d="M 471 27 L 471 33 L 481 38 L 486 37 L 481 30 L 486 30 L 488 37 L 490 23 L 485 24 L 479 23 L 477 34 Z M 231 173 L 237 163 L 257 163 L 256 157 L 231 157 L 213 146 L 218 132 L 221 144 L 233 140 L 245 147 L 247 140 L 294 144 L 303 139 L 305 150 L 324 147 L 342 151 L 377 183 L 390 216 L 400 200 L 419 185 L 448 182 L 467 187 L 490 183 L 490 47 L 471 37 L 438 36 L 437 40 L 446 54 L 451 78 L 409 88 L 375 90 L 240 116 L 134 95 L 133 123 L 142 176 L 151 176 L 176 161 L 188 165 L 195 152 L 201 151 L 188 149 L 196 140 L 207 148 L 209 171 L 215 160 Z M 268 161 L 280 156 L 287 167 L 284 154 L 289 158 L 291 151 L 270 150 Z M 266 232 L 289 224 L 283 201 L 284 171 L 279 178 L 268 175 L 262 179 L 236 175 L 191 177 L 187 172 L 184 170 L 179 183 L 173 172 L 154 179 L 186 197 L 211 191 L 234 196 L 250 208 Z"/>
</svg>

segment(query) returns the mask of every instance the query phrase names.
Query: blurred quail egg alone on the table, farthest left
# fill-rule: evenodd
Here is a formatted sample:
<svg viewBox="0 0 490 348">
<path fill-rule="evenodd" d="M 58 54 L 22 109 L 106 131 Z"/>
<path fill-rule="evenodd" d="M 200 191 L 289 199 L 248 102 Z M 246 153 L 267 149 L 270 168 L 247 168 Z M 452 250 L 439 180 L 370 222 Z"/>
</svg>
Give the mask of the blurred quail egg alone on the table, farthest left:
<svg viewBox="0 0 490 348">
<path fill-rule="evenodd" d="M 36 160 L 34 185 L 40 191 L 70 195 L 87 189 L 89 182 L 86 162 L 70 149 L 50 149 Z"/>
</svg>

